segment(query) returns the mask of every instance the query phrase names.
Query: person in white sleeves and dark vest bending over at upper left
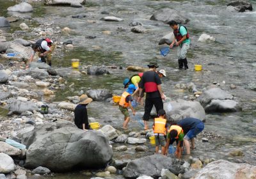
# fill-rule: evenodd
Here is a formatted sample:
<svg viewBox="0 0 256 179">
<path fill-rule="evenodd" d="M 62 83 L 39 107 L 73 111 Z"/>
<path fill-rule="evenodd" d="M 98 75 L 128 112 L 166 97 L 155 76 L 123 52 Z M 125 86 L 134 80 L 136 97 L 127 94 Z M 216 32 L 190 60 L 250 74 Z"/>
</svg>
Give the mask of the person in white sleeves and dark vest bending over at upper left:
<svg viewBox="0 0 256 179">
<path fill-rule="evenodd" d="M 49 38 L 42 38 L 41 40 L 36 41 L 36 43 L 34 43 L 31 48 L 33 49 L 33 52 L 31 54 L 31 57 L 29 59 L 29 61 L 27 62 L 26 68 L 29 67 L 29 63 L 31 63 L 31 61 L 33 61 L 33 58 L 36 54 L 36 52 L 38 52 L 38 56 L 41 58 L 42 62 L 47 62 L 47 64 L 49 66 L 52 65 L 52 51 L 54 51 L 55 49 L 55 43 L 52 42 L 51 39 Z M 45 60 L 45 58 L 47 58 L 47 61 Z"/>
</svg>

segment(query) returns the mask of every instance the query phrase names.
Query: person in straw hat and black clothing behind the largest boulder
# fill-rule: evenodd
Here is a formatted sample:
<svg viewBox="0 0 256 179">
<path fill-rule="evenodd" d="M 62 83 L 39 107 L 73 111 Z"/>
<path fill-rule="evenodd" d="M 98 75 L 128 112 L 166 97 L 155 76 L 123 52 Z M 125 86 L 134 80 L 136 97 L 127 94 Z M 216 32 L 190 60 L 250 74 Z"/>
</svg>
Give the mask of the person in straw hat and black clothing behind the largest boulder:
<svg viewBox="0 0 256 179">
<path fill-rule="evenodd" d="M 87 95 L 81 95 L 80 102 L 76 106 L 75 109 L 75 124 L 78 128 L 81 128 L 83 130 L 90 129 L 90 125 L 88 122 L 88 115 L 87 115 L 87 109 L 86 105 L 88 105 L 90 102 L 92 102 L 92 98 L 88 98 Z"/>
</svg>

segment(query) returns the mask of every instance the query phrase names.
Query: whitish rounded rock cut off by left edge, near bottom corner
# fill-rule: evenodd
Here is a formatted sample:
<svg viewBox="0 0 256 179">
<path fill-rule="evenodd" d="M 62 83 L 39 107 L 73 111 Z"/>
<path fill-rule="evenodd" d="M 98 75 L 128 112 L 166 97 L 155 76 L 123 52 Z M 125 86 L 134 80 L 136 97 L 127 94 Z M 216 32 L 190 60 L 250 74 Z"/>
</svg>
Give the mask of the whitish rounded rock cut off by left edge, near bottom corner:
<svg viewBox="0 0 256 179">
<path fill-rule="evenodd" d="M 10 173 L 15 169 L 12 157 L 5 153 L 0 153 L 0 173 Z"/>
</svg>

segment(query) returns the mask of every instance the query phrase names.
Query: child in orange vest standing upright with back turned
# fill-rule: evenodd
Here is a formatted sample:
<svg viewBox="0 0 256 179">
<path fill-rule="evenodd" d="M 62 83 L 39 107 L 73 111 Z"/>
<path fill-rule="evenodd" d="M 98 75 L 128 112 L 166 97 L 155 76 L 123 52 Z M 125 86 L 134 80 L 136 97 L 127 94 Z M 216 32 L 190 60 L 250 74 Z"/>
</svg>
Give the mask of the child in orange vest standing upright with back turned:
<svg viewBox="0 0 256 179">
<path fill-rule="evenodd" d="M 167 134 L 168 132 L 164 109 L 160 109 L 158 111 L 158 116 L 159 116 L 158 118 L 154 119 L 154 124 L 153 124 L 154 136 L 156 140 L 156 153 L 158 154 L 159 145 L 161 145 L 162 146 L 161 153 L 162 155 L 164 155 L 165 154 L 164 134 Z"/>
</svg>

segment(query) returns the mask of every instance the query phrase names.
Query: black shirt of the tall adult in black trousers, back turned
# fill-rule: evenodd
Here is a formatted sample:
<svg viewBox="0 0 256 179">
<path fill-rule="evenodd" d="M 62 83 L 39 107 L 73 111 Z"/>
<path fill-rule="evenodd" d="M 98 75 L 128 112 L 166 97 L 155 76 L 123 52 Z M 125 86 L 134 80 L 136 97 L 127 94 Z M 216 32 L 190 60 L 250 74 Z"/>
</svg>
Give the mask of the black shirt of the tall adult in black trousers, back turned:
<svg viewBox="0 0 256 179">
<path fill-rule="evenodd" d="M 157 85 L 161 84 L 161 79 L 159 75 L 154 71 L 147 71 L 143 73 L 143 76 L 141 77 L 141 81 L 139 84 L 140 88 L 144 88 L 144 84 L 146 82 L 156 82 Z M 154 91 L 147 93 L 146 98 L 159 98 L 161 97 L 159 91 Z"/>
</svg>

